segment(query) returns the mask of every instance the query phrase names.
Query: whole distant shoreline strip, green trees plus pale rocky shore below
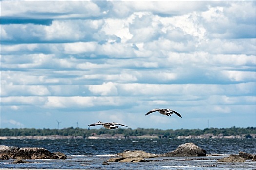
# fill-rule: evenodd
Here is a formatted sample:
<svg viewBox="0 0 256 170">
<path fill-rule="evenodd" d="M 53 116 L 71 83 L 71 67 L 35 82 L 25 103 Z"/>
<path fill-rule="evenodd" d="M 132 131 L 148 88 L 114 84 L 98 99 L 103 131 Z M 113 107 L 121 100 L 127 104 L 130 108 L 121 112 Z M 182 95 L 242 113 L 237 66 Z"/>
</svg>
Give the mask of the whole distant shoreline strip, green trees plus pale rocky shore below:
<svg viewBox="0 0 256 170">
<path fill-rule="evenodd" d="M 144 129 L 118 128 L 109 130 L 64 129 L 8 129 L 1 128 L 2 139 L 209 139 L 209 138 L 256 138 L 256 127 L 205 128 L 205 129 Z"/>
</svg>

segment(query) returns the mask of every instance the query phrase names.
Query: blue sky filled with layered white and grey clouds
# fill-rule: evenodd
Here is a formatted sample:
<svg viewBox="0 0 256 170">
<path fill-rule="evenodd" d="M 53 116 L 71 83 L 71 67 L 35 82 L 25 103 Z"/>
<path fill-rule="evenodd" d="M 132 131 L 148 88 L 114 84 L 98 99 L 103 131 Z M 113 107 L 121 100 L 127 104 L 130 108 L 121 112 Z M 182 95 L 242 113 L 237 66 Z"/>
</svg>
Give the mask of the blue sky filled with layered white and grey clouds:
<svg viewBox="0 0 256 170">
<path fill-rule="evenodd" d="M 1 128 L 255 127 L 255 3 L 1 1 Z"/>
</svg>

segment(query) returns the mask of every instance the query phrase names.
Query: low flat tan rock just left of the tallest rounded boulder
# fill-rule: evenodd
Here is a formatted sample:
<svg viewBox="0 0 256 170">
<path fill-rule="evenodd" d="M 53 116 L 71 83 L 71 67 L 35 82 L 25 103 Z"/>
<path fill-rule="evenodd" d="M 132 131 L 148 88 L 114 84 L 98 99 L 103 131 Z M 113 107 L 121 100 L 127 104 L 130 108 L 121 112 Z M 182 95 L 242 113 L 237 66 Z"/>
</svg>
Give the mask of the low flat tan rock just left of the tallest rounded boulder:
<svg viewBox="0 0 256 170">
<path fill-rule="evenodd" d="M 122 153 L 118 153 L 118 155 L 122 156 L 123 158 L 135 158 L 135 157 L 153 158 L 153 157 L 158 157 L 159 156 L 157 154 L 147 153 L 147 152 L 141 151 L 141 150 L 136 150 L 136 151 L 125 150 Z"/>
</svg>

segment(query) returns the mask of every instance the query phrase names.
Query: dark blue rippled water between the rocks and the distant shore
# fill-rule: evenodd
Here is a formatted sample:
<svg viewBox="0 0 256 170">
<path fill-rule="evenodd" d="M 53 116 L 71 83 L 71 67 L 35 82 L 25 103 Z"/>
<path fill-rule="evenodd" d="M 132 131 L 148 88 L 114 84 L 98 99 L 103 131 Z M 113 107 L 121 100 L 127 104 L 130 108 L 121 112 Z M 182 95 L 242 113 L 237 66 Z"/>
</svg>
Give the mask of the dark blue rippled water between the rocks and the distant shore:
<svg viewBox="0 0 256 170">
<path fill-rule="evenodd" d="M 124 150 L 143 150 L 149 153 L 167 153 L 179 145 L 193 142 L 207 154 L 238 154 L 239 151 L 256 153 L 255 139 L 45 139 L 1 140 L 1 145 L 43 147 L 50 152 L 66 155 L 117 154 Z"/>
</svg>

